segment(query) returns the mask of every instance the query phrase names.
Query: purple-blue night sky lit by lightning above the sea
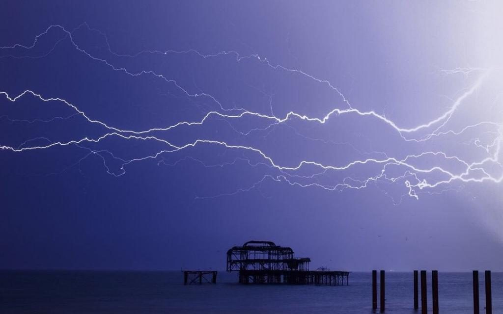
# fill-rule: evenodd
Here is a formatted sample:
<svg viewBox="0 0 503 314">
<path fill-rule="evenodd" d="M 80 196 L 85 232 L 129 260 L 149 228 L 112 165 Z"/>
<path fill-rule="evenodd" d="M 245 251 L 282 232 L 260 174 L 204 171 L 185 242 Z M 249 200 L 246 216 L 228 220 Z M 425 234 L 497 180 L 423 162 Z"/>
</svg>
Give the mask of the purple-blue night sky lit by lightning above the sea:
<svg viewBox="0 0 503 314">
<path fill-rule="evenodd" d="M 503 270 L 502 10 L 4 1 L 0 268 Z"/>
</svg>

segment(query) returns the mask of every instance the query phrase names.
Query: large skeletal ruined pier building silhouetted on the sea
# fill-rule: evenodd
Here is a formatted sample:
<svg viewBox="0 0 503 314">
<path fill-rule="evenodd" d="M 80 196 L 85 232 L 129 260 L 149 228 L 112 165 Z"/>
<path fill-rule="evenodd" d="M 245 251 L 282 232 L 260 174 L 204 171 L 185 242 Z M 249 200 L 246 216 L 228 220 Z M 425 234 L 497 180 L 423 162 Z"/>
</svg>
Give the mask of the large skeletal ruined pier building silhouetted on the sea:
<svg viewBox="0 0 503 314">
<path fill-rule="evenodd" d="M 227 251 L 227 271 L 238 271 L 240 283 L 349 284 L 348 271 L 310 271 L 310 262 L 271 241 L 248 241 Z"/>
</svg>

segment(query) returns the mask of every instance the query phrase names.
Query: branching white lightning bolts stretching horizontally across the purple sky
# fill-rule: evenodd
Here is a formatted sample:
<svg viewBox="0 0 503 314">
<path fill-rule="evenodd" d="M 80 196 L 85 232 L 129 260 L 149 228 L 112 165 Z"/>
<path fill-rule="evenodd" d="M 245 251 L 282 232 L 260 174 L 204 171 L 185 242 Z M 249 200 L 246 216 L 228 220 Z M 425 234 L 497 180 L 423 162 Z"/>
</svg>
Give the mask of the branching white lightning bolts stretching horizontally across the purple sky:
<svg viewBox="0 0 503 314">
<path fill-rule="evenodd" d="M 288 112 L 286 115 L 279 117 L 273 114 L 272 98 L 270 97 L 270 108 L 271 113 L 265 114 L 261 112 L 256 112 L 246 108 L 226 108 L 223 106 L 222 102 L 207 92 L 191 93 L 187 88 L 184 88 L 177 80 L 166 77 L 163 74 L 157 73 L 152 70 L 141 70 L 132 71 L 125 66 L 117 66 L 110 60 L 103 57 L 97 57 L 87 51 L 85 48 L 79 46 L 74 39 L 74 32 L 81 29 L 87 29 L 90 32 L 98 33 L 102 38 L 105 39 L 106 48 L 108 51 L 117 57 L 127 57 L 127 58 L 137 58 L 140 55 L 169 55 L 169 54 L 192 54 L 198 58 L 208 59 L 208 58 L 218 58 L 220 56 L 234 56 L 235 62 L 240 62 L 242 60 L 255 61 L 258 64 L 270 67 L 275 71 L 283 71 L 287 74 L 300 75 L 305 79 L 312 80 L 316 83 L 322 84 L 324 87 L 329 88 L 331 91 L 336 93 L 341 99 L 341 103 L 344 108 L 334 108 L 328 111 L 322 117 L 311 117 L 305 114 L 299 114 L 294 111 Z M 54 43 L 54 46 L 48 51 L 41 54 L 30 54 L 37 48 L 40 41 L 43 40 L 44 36 L 48 35 L 50 32 L 60 32 L 60 38 Z M 124 129 L 112 126 L 106 121 L 101 121 L 96 117 L 91 117 L 84 111 L 78 108 L 77 104 L 72 103 L 69 99 L 63 99 L 57 95 L 46 95 L 44 91 L 38 90 L 24 90 L 23 92 L 13 95 L 8 91 L 0 91 L 0 95 L 5 97 L 10 102 L 16 102 L 19 99 L 27 96 L 33 96 L 40 102 L 55 101 L 63 104 L 71 111 L 73 114 L 53 117 L 50 119 L 11 119 L 8 116 L 2 116 L 0 119 L 6 119 L 10 123 L 27 123 L 32 124 L 35 122 L 42 123 L 53 123 L 57 120 L 68 120 L 70 118 L 82 117 L 87 123 L 91 125 L 98 125 L 102 127 L 105 132 L 100 136 L 92 137 L 85 136 L 81 138 L 74 138 L 69 141 L 51 141 L 47 138 L 37 137 L 22 143 L 17 143 L 17 145 L 7 145 L 0 143 L 0 150 L 4 153 L 7 151 L 22 154 L 27 151 L 38 151 L 38 150 L 48 150 L 56 146 L 66 147 L 75 146 L 83 150 L 87 150 L 88 154 L 84 157 L 78 159 L 74 164 L 77 165 L 83 159 L 91 155 L 100 156 L 103 160 L 103 164 L 106 171 L 114 176 L 121 176 L 126 172 L 127 165 L 135 162 L 141 162 L 147 159 L 158 160 L 158 164 L 163 164 L 167 166 L 176 167 L 181 160 L 190 160 L 192 162 L 201 163 L 205 167 L 225 167 L 228 165 L 234 165 L 237 161 L 244 161 L 249 167 L 256 168 L 256 171 L 262 171 L 257 166 L 265 166 L 268 169 L 267 173 L 264 173 L 262 179 L 249 185 L 238 188 L 234 191 L 225 191 L 218 195 L 210 196 L 200 196 L 199 198 L 205 197 L 217 197 L 223 195 L 232 195 L 240 192 L 246 192 L 251 189 L 256 188 L 262 184 L 265 180 L 271 180 L 273 182 L 281 182 L 283 184 L 288 184 L 300 188 L 321 188 L 328 191 L 342 191 L 344 189 L 364 189 L 373 183 L 386 182 L 394 185 L 401 185 L 405 188 L 405 194 L 412 198 L 419 198 L 420 193 L 438 193 L 443 190 L 453 188 L 455 183 L 481 183 L 481 182 L 493 182 L 500 183 L 503 180 L 503 165 L 501 164 L 501 141 L 503 139 L 503 124 L 502 121 L 479 121 L 473 124 L 464 125 L 462 127 L 448 128 L 449 122 L 458 113 L 462 106 L 470 106 L 467 104 L 467 99 L 476 94 L 480 88 L 484 85 L 490 75 L 493 74 L 494 69 L 481 68 L 481 67 L 460 67 L 455 69 L 442 69 L 440 72 L 444 75 L 458 75 L 461 74 L 466 78 L 468 76 L 476 76 L 476 80 L 468 86 L 464 92 L 461 93 L 456 99 L 452 101 L 451 106 L 443 112 L 438 117 L 431 119 L 430 121 L 421 122 L 415 126 L 400 126 L 400 123 L 393 121 L 384 115 L 378 114 L 375 111 L 365 111 L 359 110 L 357 107 L 350 103 L 349 99 L 341 92 L 341 90 L 335 87 L 331 82 L 325 79 L 317 78 L 314 75 L 306 73 L 299 69 L 288 68 L 280 64 L 274 64 L 266 57 L 262 57 L 258 54 L 251 54 L 246 56 L 241 56 L 236 51 L 221 51 L 214 54 L 203 54 L 195 49 L 185 50 L 185 51 L 175 51 L 175 50 L 145 50 L 140 51 L 135 54 L 120 54 L 114 52 L 110 48 L 110 44 L 107 36 L 99 30 L 89 27 L 87 24 L 82 24 L 74 30 L 66 30 L 60 25 L 52 25 L 48 27 L 43 33 L 37 35 L 31 45 L 15 44 L 6 47 L 0 47 L 0 57 L 1 58 L 43 58 L 51 54 L 63 41 L 69 41 L 71 45 L 75 48 L 75 51 L 81 53 L 90 59 L 105 64 L 110 69 L 119 72 L 119 75 L 129 75 L 132 77 L 137 77 L 140 75 L 151 75 L 157 79 L 164 81 L 167 84 L 172 84 L 178 88 L 183 94 L 190 98 L 196 97 L 206 97 L 210 101 L 213 101 L 218 110 L 211 110 L 205 113 L 202 119 L 194 119 L 191 121 L 180 121 L 178 123 L 165 126 L 165 127 L 154 127 L 145 130 L 133 130 Z M 235 132 L 246 137 L 254 132 L 274 132 L 274 128 L 278 125 L 286 125 L 290 121 L 297 121 L 306 124 L 318 124 L 325 125 L 330 119 L 344 119 L 345 117 L 358 117 L 360 119 L 373 119 L 376 123 L 383 124 L 391 128 L 401 139 L 403 143 L 415 143 L 421 144 L 423 150 L 421 152 L 411 152 L 405 157 L 394 157 L 387 152 L 372 151 L 372 152 L 359 152 L 362 156 L 361 159 L 355 159 L 344 164 L 326 164 L 318 160 L 301 160 L 293 165 L 284 165 L 277 162 L 273 157 L 270 156 L 266 149 L 259 149 L 254 146 L 245 145 L 242 143 L 231 143 L 226 140 L 215 140 L 208 139 L 205 137 L 200 137 L 194 141 L 187 142 L 183 145 L 175 144 L 173 141 L 166 140 L 162 136 L 159 136 L 159 132 L 168 132 L 181 127 L 194 127 L 204 125 L 210 118 L 218 118 L 223 121 L 233 121 L 234 123 L 239 123 L 243 118 L 252 117 L 265 121 L 265 126 L 257 126 L 249 128 L 248 131 L 242 132 L 237 129 L 233 129 Z M 1 123 L 2 120 L 0 120 Z M 289 126 L 291 127 L 291 126 Z M 292 127 L 291 127 L 292 128 Z M 295 130 L 295 129 L 294 129 Z M 466 157 L 461 157 L 457 154 L 449 154 L 446 151 L 438 149 L 428 149 L 429 142 L 442 138 L 442 137 L 459 137 L 467 132 L 479 132 L 475 137 L 471 138 L 467 145 L 470 149 L 479 149 L 484 152 L 484 156 L 477 157 L 474 160 L 470 160 Z M 322 141 L 326 145 L 330 144 L 346 144 L 352 145 L 351 143 L 335 143 L 324 138 L 312 138 L 301 134 L 301 132 L 295 133 L 299 137 L 310 141 Z M 124 158 L 117 156 L 107 149 L 92 149 L 83 146 L 86 143 L 102 143 L 108 138 L 118 138 L 125 141 L 136 140 L 136 141 L 153 141 L 162 145 L 164 148 L 157 150 L 153 154 L 145 154 L 137 158 Z M 31 145 L 31 143 L 40 143 L 43 140 L 47 142 L 44 145 Z M 460 140 L 461 141 L 461 140 Z M 466 141 L 465 141 L 466 142 Z M 218 164 L 207 164 L 205 161 L 184 156 L 179 161 L 174 163 L 167 163 L 162 160 L 162 155 L 170 154 L 175 152 L 183 152 L 189 148 L 196 148 L 203 145 L 213 145 L 223 147 L 228 150 L 239 150 L 246 151 L 252 155 L 259 158 L 261 161 L 252 161 L 251 158 L 238 157 L 233 161 L 227 162 L 222 161 Z M 426 148 L 426 149 L 425 149 Z M 107 154 L 111 156 L 114 160 L 120 163 L 120 171 L 114 172 L 107 166 L 107 161 L 104 155 Z M 365 155 L 371 155 L 374 157 L 364 157 Z M 379 157 L 375 157 L 378 155 Z M 428 158 L 426 164 L 417 164 L 417 160 L 423 160 Z M 440 161 L 439 161 L 440 160 Z M 347 170 L 357 168 L 360 166 L 372 166 L 370 170 L 366 170 L 365 175 L 346 175 Z M 454 169 L 454 170 L 453 170 Z M 327 176 L 332 173 L 344 173 L 342 179 L 332 179 L 331 183 L 327 183 L 325 180 L 320 180 L 321 176 Z M 401 197 L 400 197 L 401 199 Z M 396 199 L 395 199 L 396 202 Z"/>
</svg>

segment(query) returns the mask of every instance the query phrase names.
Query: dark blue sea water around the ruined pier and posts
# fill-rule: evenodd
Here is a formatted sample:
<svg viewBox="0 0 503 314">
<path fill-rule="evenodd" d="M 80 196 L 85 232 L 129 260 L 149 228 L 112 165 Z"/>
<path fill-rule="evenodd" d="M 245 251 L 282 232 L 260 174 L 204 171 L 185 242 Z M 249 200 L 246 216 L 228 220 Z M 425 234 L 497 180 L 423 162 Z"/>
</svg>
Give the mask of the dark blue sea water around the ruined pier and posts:
<svg viewBox="0 0 503 314">
<path fill-rule="evenodd" d="M 339 287 L 259 286 L 219 272 L 216 285 L 184 286 L 179 271 L 0 271 L 0 313 L 371 313 L 370 278 L 352 273 L 350 285 Z M 439 273 L 441 313 L 473 313 L 471 278 Z M 484 313 L 483 272 L 480 279 Z M 493 313 L 503 313 L 502 273 L 492 273 L 492 295 Z M 412 272 L 386 273 L 386 299 L 386 312 L 414 312 Z"/>
</svg>

